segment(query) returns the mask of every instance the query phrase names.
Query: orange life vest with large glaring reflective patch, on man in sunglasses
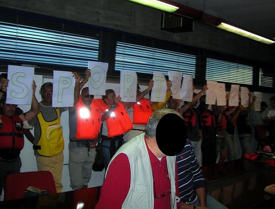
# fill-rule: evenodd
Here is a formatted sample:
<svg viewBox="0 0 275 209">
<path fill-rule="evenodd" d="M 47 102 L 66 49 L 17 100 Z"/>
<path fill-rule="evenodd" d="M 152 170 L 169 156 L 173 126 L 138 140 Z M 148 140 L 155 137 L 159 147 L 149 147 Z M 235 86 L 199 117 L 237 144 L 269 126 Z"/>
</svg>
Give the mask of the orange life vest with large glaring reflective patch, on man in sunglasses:
<svg viewBox="0 0 275 209">
<path fill-rule="evenodd" d="M 77 128 L 76 139 L 95 139 L 97 138 L 101 126 L 101 113 L 95 99 L 92 100 L 89 107 L 87 107 L 82 98 L 79 97 L 76 103 L 77 111 Z M 84 112 L 84 113 L 82 113 Z M 85 114 L 82 116 L 82 114 Z"/>
</svg>

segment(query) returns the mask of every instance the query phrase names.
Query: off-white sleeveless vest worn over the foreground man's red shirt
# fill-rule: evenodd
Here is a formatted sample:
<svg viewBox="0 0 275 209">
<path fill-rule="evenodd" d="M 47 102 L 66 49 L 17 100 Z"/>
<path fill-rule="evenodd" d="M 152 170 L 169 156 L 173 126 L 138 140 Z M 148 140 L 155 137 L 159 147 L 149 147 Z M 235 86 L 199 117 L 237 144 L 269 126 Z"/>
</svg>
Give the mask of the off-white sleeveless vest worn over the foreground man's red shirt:
<svg viewBox="0 0 275 209">
<path fill-rule="evenodd" d="M 144 141 L 144 133 L 132 138 L 130 141 L 121 146 L 111 159 L 109 165 L 120 153 L 124 153 L 128 156 L 131 169 L 130 189 L 122 204 L 122 209 L 153 209 L 153 174 L 149 154 Z M 171 178 L 171 209 L 176 209 L 176 200 L 179 201 L 179 198 L 175 193 L 176 156 L 166 156 L 166 160 L 168 172 Z M 121 178 L 123 179 L 123 173 L 121 173 Z"/>
</svg>

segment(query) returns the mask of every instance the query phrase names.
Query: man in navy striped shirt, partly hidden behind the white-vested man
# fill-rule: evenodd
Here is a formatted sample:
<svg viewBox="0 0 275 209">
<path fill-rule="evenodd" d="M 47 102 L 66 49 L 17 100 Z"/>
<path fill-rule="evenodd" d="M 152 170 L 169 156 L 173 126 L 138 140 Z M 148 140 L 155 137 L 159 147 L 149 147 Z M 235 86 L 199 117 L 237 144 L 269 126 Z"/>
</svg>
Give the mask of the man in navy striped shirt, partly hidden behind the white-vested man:
<svg viewBox="0 0 275 209">
<path fill-rule="evenodd" d="M 186 145 L 176 160 L 181 209 L 227 208 L 206 194 L 204 176 L 189 140 L 186 140 Z"/>
</svg>

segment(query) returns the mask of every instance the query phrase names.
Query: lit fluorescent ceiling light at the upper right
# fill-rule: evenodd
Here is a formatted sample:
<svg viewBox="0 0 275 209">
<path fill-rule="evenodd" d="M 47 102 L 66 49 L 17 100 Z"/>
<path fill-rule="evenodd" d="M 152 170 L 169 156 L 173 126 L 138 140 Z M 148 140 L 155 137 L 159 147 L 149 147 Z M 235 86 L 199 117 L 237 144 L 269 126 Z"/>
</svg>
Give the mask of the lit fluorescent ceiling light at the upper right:
<svg viewBox="0 0 275 209">
<path fill-rule="evenodd" d="M 248 31 L 244 31 L 244 30 L 236 28 L 234 26 L 230 26 L 230 25 L 228 25 L 226 23 L 221 23 L 221 24 L 219 24 L 216 27 L 218 27 L 220 29 L 223 29 L 225 31 L 229 31 L 229 32 L 234 33 L 234 34 L 238 34 L 240 36 L 244 36 L 244 37 L 249 38 L 249 39 L 253 39 L 253 40 L 261 42 L 263 44 L 274 44 L 275 43 L 275 41 L 263 38 L 263 37 L 258 36 L 256 34 L 252 34 L 252 33 L 248 32 Z"/>
</svg>

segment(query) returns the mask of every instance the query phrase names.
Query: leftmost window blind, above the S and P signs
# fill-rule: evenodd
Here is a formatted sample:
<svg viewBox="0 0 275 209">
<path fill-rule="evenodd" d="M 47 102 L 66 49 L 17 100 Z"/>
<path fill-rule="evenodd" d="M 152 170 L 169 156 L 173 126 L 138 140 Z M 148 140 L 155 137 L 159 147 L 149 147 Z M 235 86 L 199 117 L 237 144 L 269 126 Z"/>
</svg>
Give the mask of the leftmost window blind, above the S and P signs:
<svg viewBox="0 0 275 209">
<path fill-rule="evenodd" d="M 88 67 L 99 40 L 77 34 L 0 22 L 0 59 Z"/>
</svg>

